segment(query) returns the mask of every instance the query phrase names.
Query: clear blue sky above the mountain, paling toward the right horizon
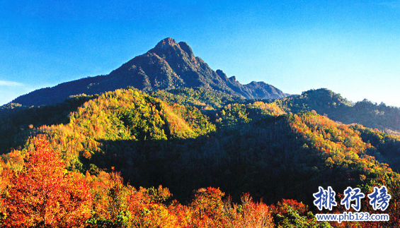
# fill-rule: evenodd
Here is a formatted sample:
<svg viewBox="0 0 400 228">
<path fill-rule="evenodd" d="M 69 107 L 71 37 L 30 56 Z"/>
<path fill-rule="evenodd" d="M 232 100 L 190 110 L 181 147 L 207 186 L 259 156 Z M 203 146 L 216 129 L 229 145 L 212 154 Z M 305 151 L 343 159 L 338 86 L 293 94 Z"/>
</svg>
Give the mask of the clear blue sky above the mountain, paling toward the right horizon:
<svg viewBox="0 0 400 228">
<path fill-rule="evenodd" d="M 0 0 L 0 105 L 171 37 L 241 83 L 400 107 L 400 1 Z"/>
</svg>

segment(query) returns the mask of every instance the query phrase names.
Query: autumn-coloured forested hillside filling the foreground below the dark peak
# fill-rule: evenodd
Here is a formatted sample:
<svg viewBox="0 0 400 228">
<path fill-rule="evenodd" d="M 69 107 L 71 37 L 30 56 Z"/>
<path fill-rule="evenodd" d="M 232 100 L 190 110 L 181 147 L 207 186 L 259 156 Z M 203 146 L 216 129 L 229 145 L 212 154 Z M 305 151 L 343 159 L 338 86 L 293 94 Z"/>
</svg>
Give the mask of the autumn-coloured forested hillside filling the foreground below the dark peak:
<svg viewBox="0 0 400 228">
<path fill-rule="evenodd" d="M 332 120 L 355 107 L 328 90 L 251 100 L 204 88 L 8 104 L 0 110 L 0 224 L 396 227 L 400 137 Z M 348 186 L 367 194 L 382 184 L 392 195 L 389 222 L 316 222 L 319 186 L 339 197 Z"/>
</svg>

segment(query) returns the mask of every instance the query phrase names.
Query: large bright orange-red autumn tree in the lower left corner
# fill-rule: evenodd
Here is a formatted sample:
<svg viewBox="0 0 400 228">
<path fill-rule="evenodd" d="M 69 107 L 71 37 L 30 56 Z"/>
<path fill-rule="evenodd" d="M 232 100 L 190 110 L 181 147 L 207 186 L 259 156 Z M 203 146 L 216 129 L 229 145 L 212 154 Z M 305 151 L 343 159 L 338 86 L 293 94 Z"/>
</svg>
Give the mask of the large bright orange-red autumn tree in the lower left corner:
<svg viewBox="0 0 400 228">
<path fill-rule="evenodd" d="M 91 193 L 79 175 L 64 169 L 59 152 L 46 138 L 35 139 L 23 169 L 2 195 L 5 227 L 79 227 L 90 217 Z"/>
</svg>

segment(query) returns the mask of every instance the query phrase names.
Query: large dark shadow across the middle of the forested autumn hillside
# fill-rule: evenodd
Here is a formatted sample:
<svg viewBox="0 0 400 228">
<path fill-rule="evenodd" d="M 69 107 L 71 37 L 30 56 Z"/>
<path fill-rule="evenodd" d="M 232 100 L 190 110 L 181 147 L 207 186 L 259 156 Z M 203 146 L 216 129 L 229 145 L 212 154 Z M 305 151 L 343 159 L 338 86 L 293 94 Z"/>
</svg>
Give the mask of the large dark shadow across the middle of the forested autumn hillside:
<svg viewBox="0 0 400 228">
<path fill-rule="evenodd" d="M 103 140 L 105 153 L 86 164 L 108 171 L 115 167 L 135 187 L 161 184 L 181 203 L 190 200 L 193 190 L 207 186 L 219 187 L 236 202 L 250 193 L 265 203 L 282 198 L 312 203 L 318 186 L 344 188 L 335 173 L 323 175 L 312 169 L 316 164 L 302 162 L 304 157 L 295 155 L 299 145 L 275 125 L 270 120 L 244 124 L 195 139 Z"/>
</svg>

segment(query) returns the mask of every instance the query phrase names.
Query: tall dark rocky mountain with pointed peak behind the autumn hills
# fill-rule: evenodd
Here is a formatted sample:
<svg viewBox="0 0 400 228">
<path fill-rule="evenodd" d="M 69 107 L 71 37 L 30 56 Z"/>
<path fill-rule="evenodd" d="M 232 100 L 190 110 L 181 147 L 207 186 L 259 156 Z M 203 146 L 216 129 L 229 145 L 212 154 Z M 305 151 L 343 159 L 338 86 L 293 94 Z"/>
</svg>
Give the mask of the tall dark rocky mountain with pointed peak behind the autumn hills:
<svg viewBox="0 0 400 228">
<path fill-rule="evenodd" d="M 228 78 L 213 71 L 202 59 L 195 57 L 185 42 L 171 38 L 161 40 L 146 54 L 136 56 L 107 76 L 82 78 L 53 88 L 35 90 L 13 100 L 23 106 L 55 104 L 71 95 L 95 95 L 132 86 L 139 90 L 171 90 L 200 87 L 245 98 L 275 99 L 287 94 L 263 82 L 242 85 L 234 76 Z"/>
</svg>

